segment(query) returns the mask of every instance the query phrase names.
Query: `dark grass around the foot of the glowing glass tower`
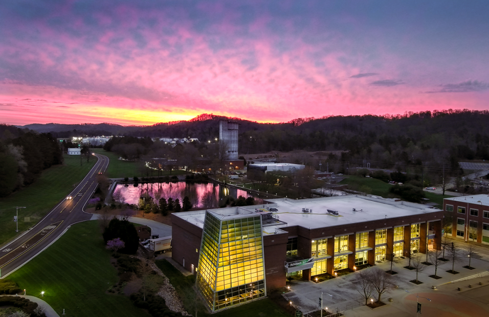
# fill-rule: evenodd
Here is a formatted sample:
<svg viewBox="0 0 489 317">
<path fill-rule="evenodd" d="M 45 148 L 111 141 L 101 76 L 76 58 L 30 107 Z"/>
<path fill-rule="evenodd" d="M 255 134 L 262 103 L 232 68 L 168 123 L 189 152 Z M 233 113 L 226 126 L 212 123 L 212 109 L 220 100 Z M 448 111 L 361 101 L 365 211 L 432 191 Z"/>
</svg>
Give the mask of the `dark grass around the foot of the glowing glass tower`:
<svg viewBox="0 0 489 317">
<path fill-rule="evenodd" d="M 189 314 L 193 311 L 189 307 L 193 307 L 195 303 L 195 292 L 192 286 L 195 282 L 194 276 L 183 276 L 172 264 L 167 260 L 156 260 L 156 265 L 170 279 L 171 284 L 175 287 L 180 298 L 183 298 L 183 304 Z M 190 310 L 190 311 L 189 311 Z M 256 300 L 241 306 L 226 309 L 220 313 L 209 314 L 203 304 L 199 307 L 198 316 L 215 316 L 215 317 L 288 317 L 287 314 L 278 304 L 269 298 Z"/>
</svg>

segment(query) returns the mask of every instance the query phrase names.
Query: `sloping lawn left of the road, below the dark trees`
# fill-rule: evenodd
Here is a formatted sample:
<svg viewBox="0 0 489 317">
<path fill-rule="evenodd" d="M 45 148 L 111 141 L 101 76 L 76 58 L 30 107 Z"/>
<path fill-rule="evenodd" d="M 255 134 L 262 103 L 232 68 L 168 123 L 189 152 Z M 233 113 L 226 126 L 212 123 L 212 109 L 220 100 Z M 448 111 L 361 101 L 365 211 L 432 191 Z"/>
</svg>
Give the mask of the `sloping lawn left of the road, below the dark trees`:
<svg viewBox="0 0 489 317">
<path fill-rule="evenodd" d="M 63 165 L 55 165 L 43 171 L 41 177 L 33 184 L 0 199 L 0 245 L 14 238 L 16 224 L 14 216 L 15 207 L 19 209 L 19 230 L 35 225 L 53 207 L 76 187 L 76 185 L 88 174 L 95 164 L 96 158 L 90 157 L 89 163 L 83 158 L 80 166 L 80 157 L 65 155 Z M 24 217 L 30 217 L 29 222 Z"/>
</svg>

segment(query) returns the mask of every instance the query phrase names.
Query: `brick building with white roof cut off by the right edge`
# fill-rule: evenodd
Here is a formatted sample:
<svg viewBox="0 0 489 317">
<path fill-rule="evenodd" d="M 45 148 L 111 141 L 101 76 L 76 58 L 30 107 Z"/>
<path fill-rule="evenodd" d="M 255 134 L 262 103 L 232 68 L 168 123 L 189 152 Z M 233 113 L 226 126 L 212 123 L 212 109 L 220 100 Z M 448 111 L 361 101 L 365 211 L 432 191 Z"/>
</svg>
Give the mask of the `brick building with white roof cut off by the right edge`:
<svg viewBox="0 0 489 317">
<path fill-rule="evenodd" d="M 443 209 L 452 215 L 453 238 L 489 244 L 489 195 L 445 198 Z"/>
</svg>

